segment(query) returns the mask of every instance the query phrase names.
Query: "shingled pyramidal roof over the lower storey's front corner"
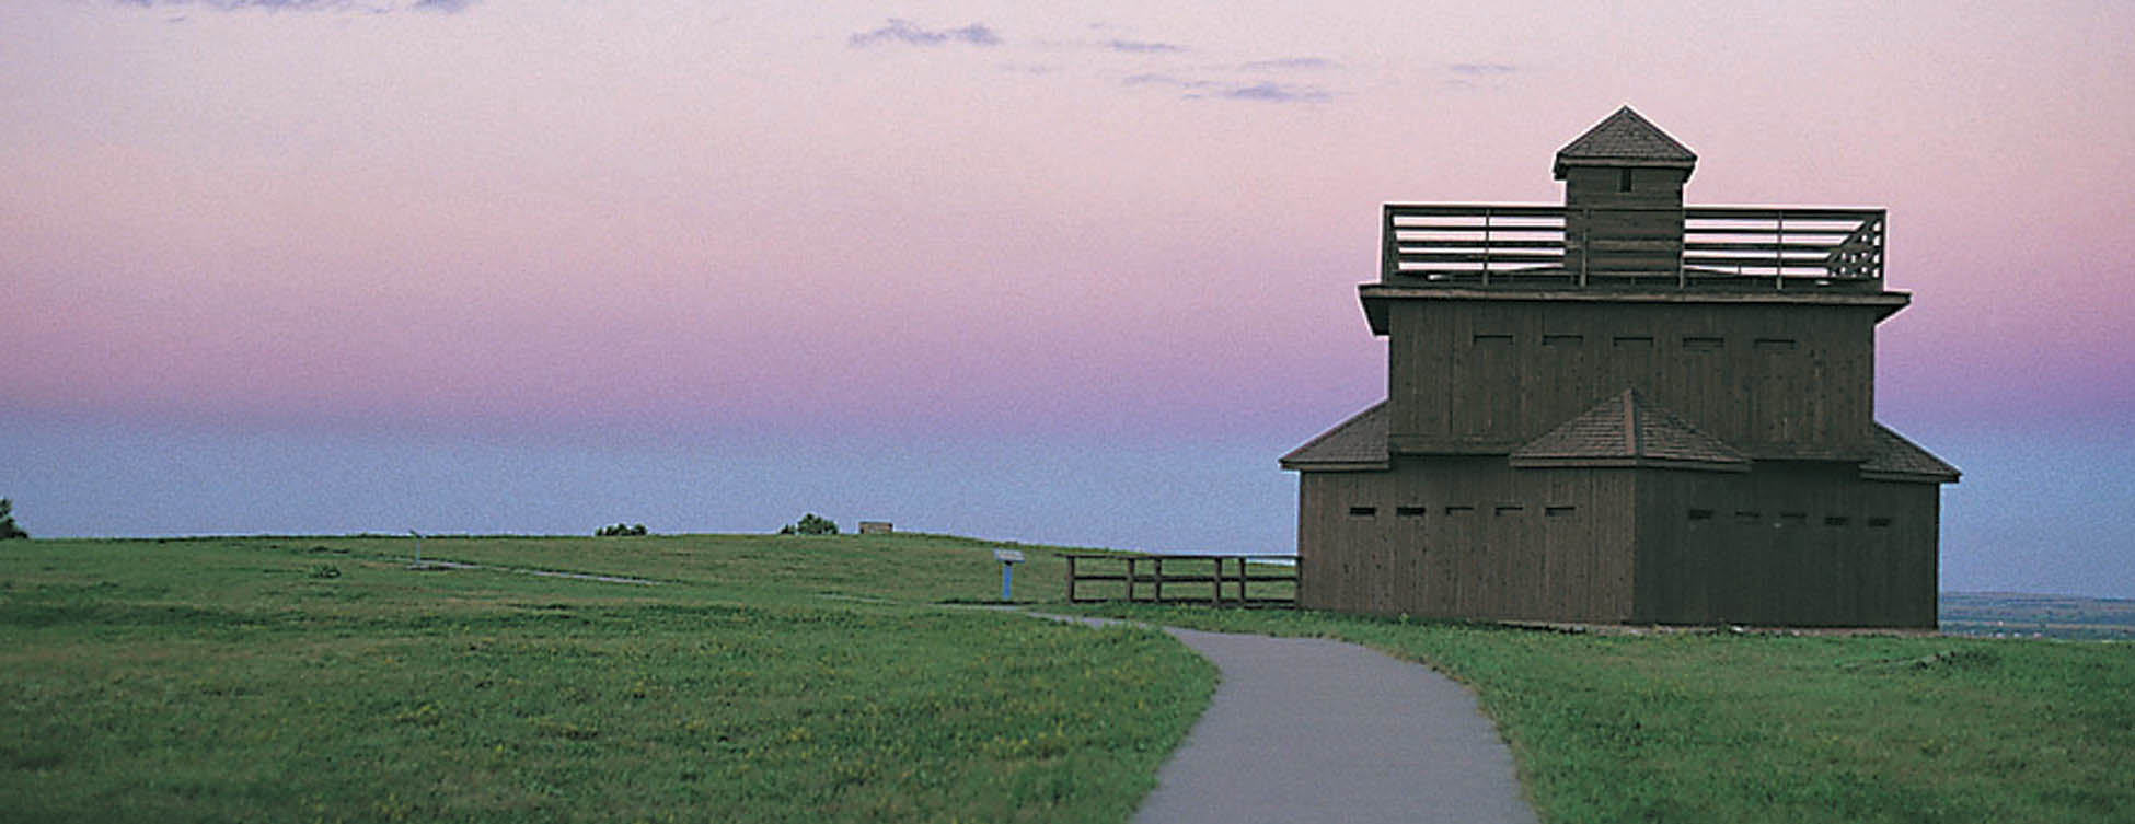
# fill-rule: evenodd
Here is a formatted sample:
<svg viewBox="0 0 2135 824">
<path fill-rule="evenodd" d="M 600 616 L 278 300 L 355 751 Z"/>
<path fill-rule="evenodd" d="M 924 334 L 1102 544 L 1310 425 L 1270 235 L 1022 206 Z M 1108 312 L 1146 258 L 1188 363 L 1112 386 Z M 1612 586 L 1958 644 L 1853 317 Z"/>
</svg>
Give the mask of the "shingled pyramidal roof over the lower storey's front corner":
<svg viewBox="0 0 2135 824">
<path fill-rule="evenodd" d="M 1625 389 L 1527 442 L 1509 461 L 1516 468 L 1655 465 L 1749 472 L 1749 457 L 1697 431 L 1635 389 Z"/>
</svg>

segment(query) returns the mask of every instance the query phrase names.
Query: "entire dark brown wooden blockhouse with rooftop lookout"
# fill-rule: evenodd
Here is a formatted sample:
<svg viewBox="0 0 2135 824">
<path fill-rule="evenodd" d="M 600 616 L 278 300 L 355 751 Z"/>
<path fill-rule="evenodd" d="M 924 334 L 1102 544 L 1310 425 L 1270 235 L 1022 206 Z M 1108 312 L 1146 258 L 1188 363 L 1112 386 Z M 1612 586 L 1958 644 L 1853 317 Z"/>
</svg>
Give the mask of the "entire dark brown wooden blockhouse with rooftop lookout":
<svg viewBox="0 0 2135 824">
<path fill-rule="evenodd" d="M 1565 205 L 1386 205 L 1386 401 L 1283 457 L 1298 604 L 1932 628 L 1941 485 L 1875 421 L 1881 209 L 1685 207 L 1620 109 Z"/>
</svg>

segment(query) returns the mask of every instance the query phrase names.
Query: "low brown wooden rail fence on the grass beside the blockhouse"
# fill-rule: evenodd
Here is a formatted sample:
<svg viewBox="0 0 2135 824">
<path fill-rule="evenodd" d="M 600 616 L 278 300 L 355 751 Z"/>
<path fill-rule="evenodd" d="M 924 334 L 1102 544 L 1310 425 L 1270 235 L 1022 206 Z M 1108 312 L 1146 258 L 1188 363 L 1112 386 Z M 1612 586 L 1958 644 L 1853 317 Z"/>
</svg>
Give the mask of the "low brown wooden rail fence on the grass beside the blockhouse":
<svg viewBox="0 0 2135 824">
<path fill-rule="evenodd" d="M 1296 555 L 1061 555 L 1068 602 L 1296 606 L 1298 568 L 1255 564 Z M 1170 570 L 1166 570 L 1166 564 Z M 1097 585 L 1097 587 L 1093 587 Z M 1260 585 L 1253 591 L 1251 585 Z M 1166 591 L 1170 587 L 1170 591 Z"/>
</svg>

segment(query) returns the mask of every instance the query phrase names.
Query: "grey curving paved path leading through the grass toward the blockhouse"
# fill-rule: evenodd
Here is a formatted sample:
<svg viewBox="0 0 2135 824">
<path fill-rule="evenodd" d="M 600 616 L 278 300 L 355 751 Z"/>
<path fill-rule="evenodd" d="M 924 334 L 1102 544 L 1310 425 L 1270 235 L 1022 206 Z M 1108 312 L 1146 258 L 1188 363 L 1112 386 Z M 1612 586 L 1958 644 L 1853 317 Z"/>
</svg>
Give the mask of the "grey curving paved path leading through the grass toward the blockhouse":
<svg viewBox="0 0 2135 824">
<path fill-rule="evenodd" d="M 1223 679 L 1136 824 L 1535 822 L 1475 696 L 1428 666 L 1339 640 L 1166 632 Z"/>
</svg>

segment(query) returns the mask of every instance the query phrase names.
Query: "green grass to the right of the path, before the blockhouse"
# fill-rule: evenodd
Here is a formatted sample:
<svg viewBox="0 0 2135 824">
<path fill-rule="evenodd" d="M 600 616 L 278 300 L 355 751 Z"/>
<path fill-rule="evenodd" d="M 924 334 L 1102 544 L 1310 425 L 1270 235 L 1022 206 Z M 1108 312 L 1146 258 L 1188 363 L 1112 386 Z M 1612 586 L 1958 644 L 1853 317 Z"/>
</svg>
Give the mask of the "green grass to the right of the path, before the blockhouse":
<svg viewBox="0 0 2135 824">
<path fill-rule="evenodd" d="M 2135 822 L 2126 643 L 1085 611 L 1433 664 L 1477 690 L 1546 822 Z"/>
</svg>

